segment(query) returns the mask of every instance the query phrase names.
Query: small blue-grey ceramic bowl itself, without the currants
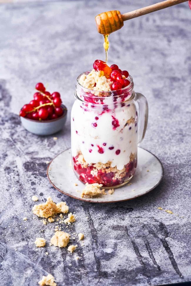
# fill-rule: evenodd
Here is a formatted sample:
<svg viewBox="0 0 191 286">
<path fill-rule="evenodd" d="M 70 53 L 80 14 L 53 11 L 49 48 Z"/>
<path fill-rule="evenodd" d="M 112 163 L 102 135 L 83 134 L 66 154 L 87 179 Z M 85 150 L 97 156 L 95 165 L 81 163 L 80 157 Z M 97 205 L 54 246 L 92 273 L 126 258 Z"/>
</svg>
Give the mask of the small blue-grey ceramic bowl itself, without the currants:
<svg viewBox="0 0 191 286">
<path fill-rule="evenodd" d="M 66 123 L 67 118 L 67 109 L 65 105 L 61 105 L 64 109 L 64 113 L 61 117 L 52 120 L 41 120 L 36 121 L 28 119 L 26 117 L 21 117 L 21 123 L 23 127 L 31 133 L 36 135 L 51 135 L 60 131 L 64 124 Z"/>
</svg>

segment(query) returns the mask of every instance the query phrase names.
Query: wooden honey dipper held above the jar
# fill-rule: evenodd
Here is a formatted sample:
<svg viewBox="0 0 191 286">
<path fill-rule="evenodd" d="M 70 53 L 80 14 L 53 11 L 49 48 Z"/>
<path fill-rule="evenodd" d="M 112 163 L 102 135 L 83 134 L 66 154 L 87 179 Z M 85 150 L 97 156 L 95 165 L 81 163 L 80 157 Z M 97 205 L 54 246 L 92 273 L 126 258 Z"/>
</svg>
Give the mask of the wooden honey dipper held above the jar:
<svg viewBox="0 0 191 286">
<path fill-rule="evenodd" d="M 186 1 L 188 0 L 166 0 L 125 14 L 121 14 L 118 10 L 103 12 L 95 17 L 97 29 L 100 34 L 109 35 L 110 33 L 122 28 L 123 22 L 126 20 L 130 20 Z"/>
</svg>

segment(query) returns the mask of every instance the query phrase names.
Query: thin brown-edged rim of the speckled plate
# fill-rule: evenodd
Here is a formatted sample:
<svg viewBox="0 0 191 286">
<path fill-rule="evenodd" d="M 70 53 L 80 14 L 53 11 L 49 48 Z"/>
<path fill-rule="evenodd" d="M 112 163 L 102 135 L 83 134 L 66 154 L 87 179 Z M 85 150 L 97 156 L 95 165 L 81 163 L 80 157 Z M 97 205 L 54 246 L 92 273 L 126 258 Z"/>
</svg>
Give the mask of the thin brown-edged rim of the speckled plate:
<svg viewBox="0 0 191 286">
<path fill-rule="evenodd" d="M 132 198 L 129 198 L 129 199 L 120 199 L 120 200 L 107 201 L 107 202 L 105 202 L 105 201 L 95 202 L 95 201 L 93 201 L 93 199 L 83 199 L 83 198 L 75 197 L 75 196 L 73 196 L 73 195 L 71 195 L 71 194 L 68 194 L 68 193 L 62 191 L 61 189 L 57 188 L 57 187 L 51 182 L 51 179 L 49 178 L 49 175 L 48 175 L 49 167 L 50 167 L 52 161 L 53 161 L 56 157 L 58 157 L 58 156 L 59 156 L 60 154 L 62 154 L 63 152 L 65 152 L 65 151 L 71 149 L 71 147 L 69 147 L 69 148 L 67 148 L 66 150 L 60 152 L 58 155 L 56 155 L 56 156 L 50 161 L 50 163 L 48 164 L 47 170 L 46 170 L 46 175 L 47 175 L 47 177 L 48 177 L 49 182 L 51 183 L 51 185 L 52 185 L 55 189 L 57 189 L 57 190 L 58 190 L 59 192 L 61 192 L 62 194 L 65 194 L 66 196 L 71 197 L 71 198 L 73 198 L 73 199 L 78 199 L 78 200 L 83 201 L 83 202 L 89 202 L 89 203 L 94 203 L 94 204 L 108 204 L 108 203 L 117 203 L 117 202 L 130 201 L 130 200 L 132 200 L 132 199 L 136 199 L 136 198 L 138 198 L 138 197 L 144 196 L 145 194 L 148 194 L 149 192 L 151 192 L 153 189 L 155 189 L 155 188 L 160 184 L 160 182 L 162 181 L 162 178 L 163 178 L 163 176 L 164 176 L 164 167 L 163 167 L 163 165 L 162 165 L 160 159 L 159 159 L 155 154 L 153 154 L 152 152 L 148 151 L 147 149 L 145 149 L 145 148 L 143 148 L 143 147 L 140 147 L 140 146 L 138 146 L 138 148 L 141 148 L 141 149 L 147 151 L 148 153 L 152 154 L 152 155 L 159 161 L 160 166 L 161 166 L 161 169 L 162 169 L 162 174 L 161 174 L 160 180 L 158 181 L 158 183 L 157 183 L 153 188 L 149 189 L 148 191 L 146 191 L 146 192 L 143 193 L 143 194 L 136 195 L 136 196 L 134 196 L 134 197 L 132 197 Z"/>
</svg>

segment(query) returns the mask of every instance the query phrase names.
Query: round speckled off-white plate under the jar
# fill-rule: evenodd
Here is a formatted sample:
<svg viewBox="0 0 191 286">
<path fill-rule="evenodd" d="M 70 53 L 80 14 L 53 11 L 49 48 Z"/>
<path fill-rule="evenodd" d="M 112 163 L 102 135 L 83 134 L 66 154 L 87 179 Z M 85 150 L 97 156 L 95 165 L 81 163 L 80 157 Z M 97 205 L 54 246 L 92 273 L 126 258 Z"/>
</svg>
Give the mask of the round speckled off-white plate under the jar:
<svg viewBox="0 0 191 286">
<path fill-rule="evenodd" d="M 47 176 L 53 187 L 67 196 L 85 202 L 112 203 L 135 199 L 153 190 L 162 180 L 163 167 L 155 155 L 138 147 L 137 170 L 130 184 L 115 189 L 112 195 L 102 195 L 93 199 L 81 198 L 84 184 L 76 178 L 72 170 L 71 149 L 63 151 L 51 161 L 48 165 Z M 78 186 L 75 186 L 75 183 Z"/>
</svg>

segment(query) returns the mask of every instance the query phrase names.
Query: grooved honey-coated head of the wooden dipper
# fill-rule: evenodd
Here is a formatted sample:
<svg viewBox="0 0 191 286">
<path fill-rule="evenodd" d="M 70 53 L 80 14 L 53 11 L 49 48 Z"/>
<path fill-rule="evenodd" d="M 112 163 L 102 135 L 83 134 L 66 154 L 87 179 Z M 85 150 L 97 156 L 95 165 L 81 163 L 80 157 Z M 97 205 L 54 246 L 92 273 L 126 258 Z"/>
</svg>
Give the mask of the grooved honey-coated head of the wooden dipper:
<svg viewBox="0 0 191 286">
<path fill-rule="evenodd" d="M 108 35 L 123 27 L 123 19 L 118 10 L 100 13 L 95 19 L 98 32 L 102 35 Z"/>
</svg>

